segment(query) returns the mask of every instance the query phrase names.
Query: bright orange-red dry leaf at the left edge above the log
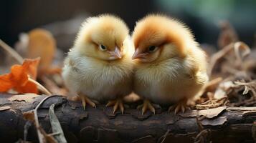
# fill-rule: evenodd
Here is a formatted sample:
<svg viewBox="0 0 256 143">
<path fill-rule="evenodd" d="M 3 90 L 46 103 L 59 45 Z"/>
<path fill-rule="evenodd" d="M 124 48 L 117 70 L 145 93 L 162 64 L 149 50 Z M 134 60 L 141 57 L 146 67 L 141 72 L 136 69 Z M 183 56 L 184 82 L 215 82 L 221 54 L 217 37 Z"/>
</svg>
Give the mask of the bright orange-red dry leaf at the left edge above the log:
<svg viewBox="0 0 256 143">
<path fill-rule="evenodd" d="M 38 93 L 37 84 L 29 81 L 29 76 L 37 77 L 39 58 L 25 59 L 22 65 L 11 66 L 9 74 L 0 75 L 0 92 L 14 89 L 19 93 Z"/>
</svg>

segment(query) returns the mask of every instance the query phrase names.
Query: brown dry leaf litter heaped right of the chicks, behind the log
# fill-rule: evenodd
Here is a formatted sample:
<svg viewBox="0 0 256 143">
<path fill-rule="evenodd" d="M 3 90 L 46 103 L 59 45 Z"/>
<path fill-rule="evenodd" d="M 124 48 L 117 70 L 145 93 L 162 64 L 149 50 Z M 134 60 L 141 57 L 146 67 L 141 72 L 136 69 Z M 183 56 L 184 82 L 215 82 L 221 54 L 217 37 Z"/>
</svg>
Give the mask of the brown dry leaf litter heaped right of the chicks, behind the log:
<svg viewBox="0 0 256 143">
<path fill-rule="evenodd" d="M 256 49 L 239 41 L 227 21 L 219 34 L 219 51 L 209 55 L 209 82 L 194 109 L 256 106 Z"/>
</svg>

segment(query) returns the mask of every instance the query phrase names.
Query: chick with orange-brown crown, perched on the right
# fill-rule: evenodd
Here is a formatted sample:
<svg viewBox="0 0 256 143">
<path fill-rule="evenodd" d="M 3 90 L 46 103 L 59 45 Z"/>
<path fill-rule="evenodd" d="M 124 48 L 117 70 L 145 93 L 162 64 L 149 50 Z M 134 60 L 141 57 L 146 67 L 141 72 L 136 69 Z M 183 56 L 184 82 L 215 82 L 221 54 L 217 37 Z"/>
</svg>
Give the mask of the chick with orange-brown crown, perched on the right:
<svg viewBox="0 0 256 143">
<path fill-rule="evenodd" d="M 189 28 L 167 16 L 151 14 L 133 31 L 136 60 L 133 90 L 144 99 L 142 114 L 151 102 L 174 104 L 169 111 L 184 112 L 186 102 L 207 82 L 207 60 Z"/>
</svg>

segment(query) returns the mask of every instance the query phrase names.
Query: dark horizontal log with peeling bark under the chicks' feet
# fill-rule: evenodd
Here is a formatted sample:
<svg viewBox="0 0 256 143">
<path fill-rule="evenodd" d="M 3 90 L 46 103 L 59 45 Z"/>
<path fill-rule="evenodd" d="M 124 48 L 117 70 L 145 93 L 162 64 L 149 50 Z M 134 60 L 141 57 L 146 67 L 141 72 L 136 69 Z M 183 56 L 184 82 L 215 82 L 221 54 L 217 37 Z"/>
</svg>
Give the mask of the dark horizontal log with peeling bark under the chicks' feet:
<svg viewBox="0 0 256 143">
<path fill-rule="evenodd" d="M 45 96 L 0 96 L 1 142 L 24 137 L 38 142 L 34 125 L 29 126 L 22 113 L 34 109 Z M 59 96 L 49 97 L 37 110 L 47 133 L 52 133 L 48 110 L 53 103 L 67 142 L 254 142 L 252 134 L 256 133 L 256 107 L 218 107 L 177 115 L 156 107 L 155 115 L 142 116 L 133 104 L 125 107 L 124 114 L 112 114 L 112 108 L 104 104 L 97 109 L 87 106 L 84 111 L 80 102 Z"/>
</svg>

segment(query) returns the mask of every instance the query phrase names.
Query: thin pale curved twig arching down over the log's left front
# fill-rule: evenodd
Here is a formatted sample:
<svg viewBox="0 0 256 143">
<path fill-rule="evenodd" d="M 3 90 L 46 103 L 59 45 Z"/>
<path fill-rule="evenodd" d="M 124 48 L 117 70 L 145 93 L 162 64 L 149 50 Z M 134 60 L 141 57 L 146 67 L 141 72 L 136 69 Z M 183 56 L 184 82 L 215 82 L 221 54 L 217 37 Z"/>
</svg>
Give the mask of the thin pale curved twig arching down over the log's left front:
<svg viewBox="0 0 256 143">
<path fill-rule="evenodd" d="M 49 97 L 45 97 L 44 99 L 42 99 L 42 101 L 39 104 L 37 104 L 37 107 L 34 109 L 34 123 L 36 124 L 36 127 L 37 127 L 37 134 L 38 134 L 38 139 L 39 139 L 40 143 L 44 143 L 45 140 L 44 140 L 44 135 L 39 130 L 40 125 L 39 125 L 38 116 L 37 116 L 37 109 L 39 109 L 41 104 L 43 104 L 44 101 L 49 99 L 50 97 L 61 97 L 61 96 L 60 95 L 52 95 L 52 96 L 49 96 Z"/>
</svg>

